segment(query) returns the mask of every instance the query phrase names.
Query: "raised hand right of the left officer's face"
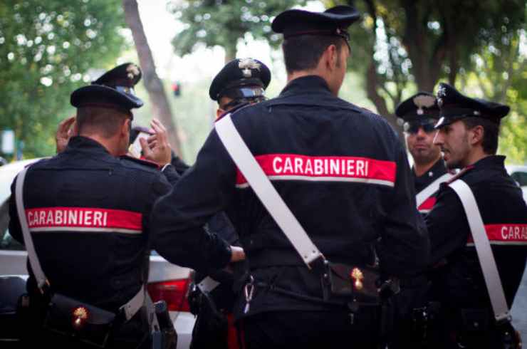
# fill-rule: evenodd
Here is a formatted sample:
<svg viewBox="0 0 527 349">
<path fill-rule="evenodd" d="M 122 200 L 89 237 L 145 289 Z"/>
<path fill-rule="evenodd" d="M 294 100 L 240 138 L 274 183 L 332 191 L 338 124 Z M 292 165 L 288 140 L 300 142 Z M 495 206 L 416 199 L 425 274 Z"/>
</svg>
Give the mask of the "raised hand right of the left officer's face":
<svg viewBox="0 0 527 349">
<path fill-rule="evenodd" d="M 147 140 L 140 139 L 142 147 L 142 154 L 145 156 L 145 159 L 153 161 L 163 167 L 170 163 L 172 160 L 172 150 L 170 148 L 167 129 L 163 124 L 157 120 L 153 119 L 152 123 L 152 132 L 154 133 Z"/>
</svg>

